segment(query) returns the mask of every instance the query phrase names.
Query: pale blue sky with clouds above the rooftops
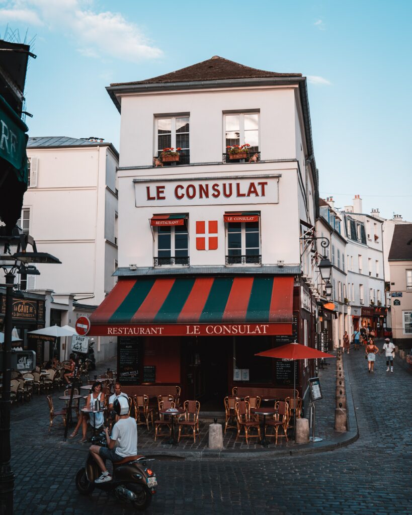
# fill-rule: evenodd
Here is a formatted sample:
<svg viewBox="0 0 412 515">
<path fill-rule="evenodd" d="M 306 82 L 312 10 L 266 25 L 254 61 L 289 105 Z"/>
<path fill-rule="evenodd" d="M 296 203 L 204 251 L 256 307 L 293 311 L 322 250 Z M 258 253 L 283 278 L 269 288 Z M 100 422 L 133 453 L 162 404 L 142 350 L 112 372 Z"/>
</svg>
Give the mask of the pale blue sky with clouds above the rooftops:
<svg viewBox="0 0 412 515">
<path fill-rule="evenodd" d="M 411 0 L 0 0 L 32 41 L 30 136 L 96 136 L 119 149 L 105 88 L 225 57 L 307 77 L 320 196 L 412 221 Z"/>
</svg>

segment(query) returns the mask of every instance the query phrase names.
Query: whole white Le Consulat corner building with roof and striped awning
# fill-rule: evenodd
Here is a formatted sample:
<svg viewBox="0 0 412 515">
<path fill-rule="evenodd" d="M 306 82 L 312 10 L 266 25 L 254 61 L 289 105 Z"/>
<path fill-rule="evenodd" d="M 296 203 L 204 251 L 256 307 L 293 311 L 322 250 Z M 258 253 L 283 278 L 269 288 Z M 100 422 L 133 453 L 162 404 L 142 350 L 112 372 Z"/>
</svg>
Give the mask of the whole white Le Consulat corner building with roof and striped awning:
<svg viewBox="0 0 412 515">
<path fill-rule="evenodd" d="M 290 388 L 291 363 L 255 353 L 315 345 L 305 77 L 214 56 L 107 90 L 121 112 L 118 282 L 91 334 L 119 337 L 125 389 L 179 384 L 221 407 L 233 386 Z"/>
</svg>

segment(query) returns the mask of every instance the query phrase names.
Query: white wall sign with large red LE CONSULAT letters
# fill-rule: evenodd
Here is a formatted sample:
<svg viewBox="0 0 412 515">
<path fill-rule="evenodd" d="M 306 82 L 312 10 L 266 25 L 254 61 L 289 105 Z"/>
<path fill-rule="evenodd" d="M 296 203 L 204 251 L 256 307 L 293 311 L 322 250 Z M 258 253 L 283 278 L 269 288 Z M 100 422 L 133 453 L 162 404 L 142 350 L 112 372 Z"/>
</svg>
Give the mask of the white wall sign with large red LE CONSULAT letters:
<svg viewBox="0 0 412 515">
<path fill-rule="evenodd" d="M 178 181 L 140 181 L 136 179 L 136 207 L 218 204 L 277 204 L 278 177 L 216 178 Z"/>
</svg>

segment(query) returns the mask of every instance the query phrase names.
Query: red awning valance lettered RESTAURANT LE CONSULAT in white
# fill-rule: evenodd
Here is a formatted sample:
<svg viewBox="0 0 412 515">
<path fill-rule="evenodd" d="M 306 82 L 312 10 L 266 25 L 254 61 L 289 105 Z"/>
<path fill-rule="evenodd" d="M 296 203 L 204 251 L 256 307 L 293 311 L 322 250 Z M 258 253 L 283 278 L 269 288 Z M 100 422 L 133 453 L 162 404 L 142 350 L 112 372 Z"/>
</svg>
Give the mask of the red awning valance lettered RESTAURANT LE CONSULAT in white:
<svg viewBox="0 0 412 515">
<path fill-rule="evenodd" d="M 291 334 L 291 323 L 93 324 L 91 336 L 277 336 Z"/>
</svg>

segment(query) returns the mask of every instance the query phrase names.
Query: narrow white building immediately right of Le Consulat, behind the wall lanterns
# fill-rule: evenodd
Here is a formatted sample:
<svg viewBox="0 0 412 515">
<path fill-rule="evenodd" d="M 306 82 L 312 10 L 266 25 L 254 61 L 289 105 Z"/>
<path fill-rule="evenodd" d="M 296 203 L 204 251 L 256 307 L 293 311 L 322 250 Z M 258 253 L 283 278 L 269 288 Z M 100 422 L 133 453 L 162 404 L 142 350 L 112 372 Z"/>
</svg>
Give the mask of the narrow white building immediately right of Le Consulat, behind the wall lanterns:
<svg viewBox="0 0 412 515">
<path fill-rule="evenodd" d="M 345 331 L 348 331 L 348 333 L 351 331 L 348 318 L 347 242 L 344 237 L 345 229 L 342 224 L 342 214 L 335 210 L 332 197 L 328 197 L 326 200 L 319 199 L 319 214 L 320 218 L 316 222 L 317 234 L 327 236 L 330 241 L 329 249 L 326 249 L 325 254 L 332 263 L 331 284 L 333 289 L 331 300 L 335 304 L 337 317 L 333 319 L 333 334 L 330 337 L 333 340 L 333 346 L 336 348 L 343 345 Z"/>
</svg>

